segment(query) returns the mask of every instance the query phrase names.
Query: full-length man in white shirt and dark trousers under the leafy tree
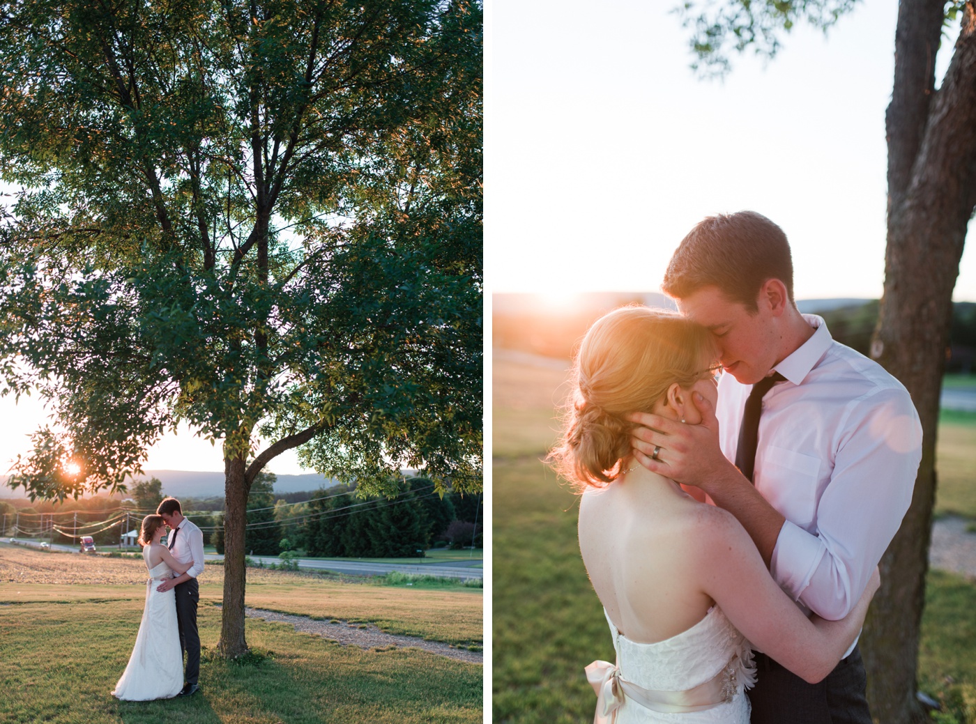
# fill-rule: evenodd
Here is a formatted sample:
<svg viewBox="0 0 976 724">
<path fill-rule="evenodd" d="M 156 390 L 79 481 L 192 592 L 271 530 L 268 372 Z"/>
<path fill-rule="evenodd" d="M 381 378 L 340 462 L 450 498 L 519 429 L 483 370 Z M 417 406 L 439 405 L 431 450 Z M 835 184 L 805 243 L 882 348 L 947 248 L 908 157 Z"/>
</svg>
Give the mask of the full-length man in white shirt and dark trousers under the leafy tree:
<svg viewBox="0 0 976 724">
<path fill-rule="evenodd" d="M 170 528 L 167 545 L 173 557 L 181 563 L 193 561 L 193 567 L 176 578 L 160 583 L 156 590 L 176 587 L 177 623 L 180 626 L 180 650 L 186 654 L 185 684 L 177 696 L 188 697 L 200 690 L 200 634 L 196 630 L 196 605 L 200 600 L 200 585 L 196 577 L 203 573 L 203 533 L 188 518 L 183 517 L 180 501 L 164 498 L 156 514 L 161 515 Z"/>
</svg>

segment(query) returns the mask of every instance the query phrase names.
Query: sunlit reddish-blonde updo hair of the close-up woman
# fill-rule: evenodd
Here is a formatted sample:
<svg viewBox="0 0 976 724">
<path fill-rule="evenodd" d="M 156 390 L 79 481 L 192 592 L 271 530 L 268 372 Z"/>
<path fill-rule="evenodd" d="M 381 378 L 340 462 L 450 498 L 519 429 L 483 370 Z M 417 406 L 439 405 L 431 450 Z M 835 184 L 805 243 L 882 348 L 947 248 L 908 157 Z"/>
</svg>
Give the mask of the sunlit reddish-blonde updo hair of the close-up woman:
<svg viewBox="0 0 976 724">
<path fill-rule="evenodd" d="M 605 487 L 630 457 L 624 416 L 651 412 L 672 382 L 690 387 L 715 356 L 708 330 L 677 312 L 631 305 L 605 314 L 580 344 L 549 463 L 578 492 Z"/>
</svg>

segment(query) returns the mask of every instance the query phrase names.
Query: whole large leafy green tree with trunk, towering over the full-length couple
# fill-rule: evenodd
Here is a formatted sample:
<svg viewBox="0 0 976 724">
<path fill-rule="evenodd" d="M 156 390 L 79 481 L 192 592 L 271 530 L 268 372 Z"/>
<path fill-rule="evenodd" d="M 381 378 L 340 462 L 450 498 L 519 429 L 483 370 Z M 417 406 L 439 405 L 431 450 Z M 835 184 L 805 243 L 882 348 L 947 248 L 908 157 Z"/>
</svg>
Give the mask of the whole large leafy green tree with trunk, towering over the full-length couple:
<svg viewBox="0 0 976 724">
<path fill-rule="evenodd" d="M 219 443 L 227 656 L 276 456 L 479 485 L 481 36 L 468 0 L 0 2 L 0 374 L 58 422 L 17 481 Z"/>
</svg>

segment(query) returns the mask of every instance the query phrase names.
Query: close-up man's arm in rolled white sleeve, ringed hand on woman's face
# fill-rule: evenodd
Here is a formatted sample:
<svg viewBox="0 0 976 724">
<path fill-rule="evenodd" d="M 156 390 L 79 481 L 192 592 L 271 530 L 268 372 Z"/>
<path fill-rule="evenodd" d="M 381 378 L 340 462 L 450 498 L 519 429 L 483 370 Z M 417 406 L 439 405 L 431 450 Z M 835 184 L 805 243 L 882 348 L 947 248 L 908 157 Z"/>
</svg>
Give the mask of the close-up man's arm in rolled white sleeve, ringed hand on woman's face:
<svg viewBox="0 0 976 724">
<path fill-rule="evenodd" d="M 843 429 L 835 431 L 842 444 L 817 504 L 814 533 L 786 520 L 732 463 L 715 457 L 711 406 L 697 394 L 695 402 L 702 425 L 630 416 L 643 425 L 633 432 L 634 457 L 653 472 L 705 490 L 738 518 L 793 600 L 821 618 L 842 619 L 857 604 L 912 501 L 921 427 L 908 393 L 888 388 L 852 401 Z M 658 462 L 649 457 L 656 445 L 662 448 Z"/>
</svg>

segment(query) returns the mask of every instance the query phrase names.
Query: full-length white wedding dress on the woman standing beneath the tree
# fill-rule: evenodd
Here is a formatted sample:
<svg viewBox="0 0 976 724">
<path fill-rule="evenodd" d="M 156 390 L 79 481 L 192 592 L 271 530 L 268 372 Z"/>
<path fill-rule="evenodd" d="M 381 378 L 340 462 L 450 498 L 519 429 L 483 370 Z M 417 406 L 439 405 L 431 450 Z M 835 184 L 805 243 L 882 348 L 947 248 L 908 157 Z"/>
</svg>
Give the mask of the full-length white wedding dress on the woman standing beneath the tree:
<svg viewBox="0 0 976 724">
<path fill-rule="evenodd" d="M 149 568 L 149 546 L 142 548 L 142 559 Z M 145 583 L 145 607 L 136 646 L 112 696 L 127 702 L 170 699 L 183 689 L 183 654 L 177 626 L 177 599 L 173 588 L 160 593 L 156 586 L 173 578 L 165 563 L 149 568 Z"/>
</svg>

